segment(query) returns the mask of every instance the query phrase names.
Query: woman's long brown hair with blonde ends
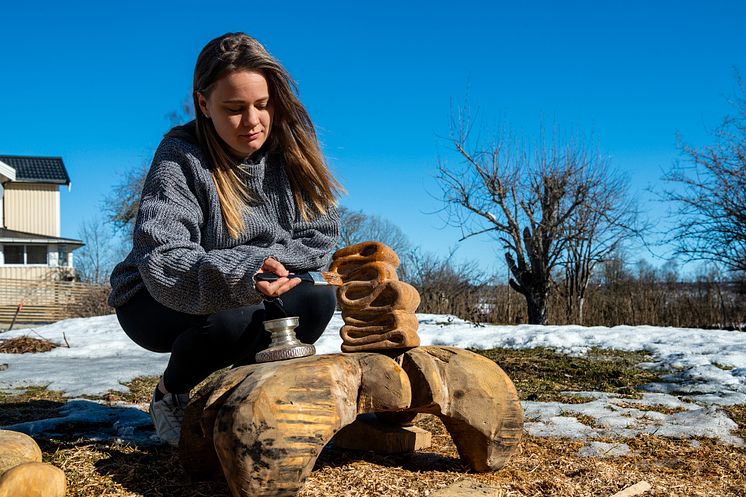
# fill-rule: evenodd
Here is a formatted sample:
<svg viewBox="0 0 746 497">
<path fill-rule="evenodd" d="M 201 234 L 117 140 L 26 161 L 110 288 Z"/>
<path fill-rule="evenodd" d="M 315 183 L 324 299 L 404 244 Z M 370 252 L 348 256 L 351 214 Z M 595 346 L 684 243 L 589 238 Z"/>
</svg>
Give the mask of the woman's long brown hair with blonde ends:
<svg viewBox="0 0 746 497">
<path fill-rule="evenodd" d="M 234 239 L 245 229 L 243 212 L 251 198 L 237 167 L 240 161 L 231 155 L 212 121 L 199 112 L 198 93 L 207 97 L 221 77 L 243 70 L 259 72 L 267 79 L 274 117 L 263 148 L 268 161 L 279 158 L 284 164 L 301 218 L 308 221 L 326 213 L 344 191 L 324 160 L 316 130 L 287 70 L 247 34 L 227 33 L 215 38 L 202 49 L 194 68 L 196 134 L 210 162 L 223 222 Z"/>
</svg>

